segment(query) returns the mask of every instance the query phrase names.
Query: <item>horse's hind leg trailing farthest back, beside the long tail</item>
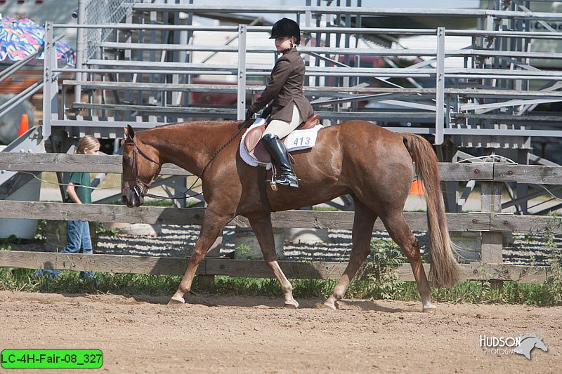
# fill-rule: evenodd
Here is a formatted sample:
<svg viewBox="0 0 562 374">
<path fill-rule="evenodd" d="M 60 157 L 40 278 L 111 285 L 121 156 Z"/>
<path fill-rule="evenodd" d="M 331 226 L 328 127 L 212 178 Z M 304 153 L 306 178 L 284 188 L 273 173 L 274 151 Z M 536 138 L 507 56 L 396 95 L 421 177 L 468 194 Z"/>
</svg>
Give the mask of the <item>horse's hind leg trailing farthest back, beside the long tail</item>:
<svg viewBox="0 0 562 374">
<path fill-rule="evenodd" d="M 414 234 L 408 227 L 402 211 L 396 211 L 386 216 L 381 216 L 381 220 L 386 227 L 386 231 L 391 238 L 398 243 L 402 251 L 406 255 L 414 278 L 416 279 L 417 290 L 421 298 L 421 307 L 424 312 L 431 312 L 436 309 L 436 306 L 431 303 L 431 289 L 427 281 L 424 265 L 421 262 L 421 255 L 419 253 L 419 243 Z"/>
</svg>

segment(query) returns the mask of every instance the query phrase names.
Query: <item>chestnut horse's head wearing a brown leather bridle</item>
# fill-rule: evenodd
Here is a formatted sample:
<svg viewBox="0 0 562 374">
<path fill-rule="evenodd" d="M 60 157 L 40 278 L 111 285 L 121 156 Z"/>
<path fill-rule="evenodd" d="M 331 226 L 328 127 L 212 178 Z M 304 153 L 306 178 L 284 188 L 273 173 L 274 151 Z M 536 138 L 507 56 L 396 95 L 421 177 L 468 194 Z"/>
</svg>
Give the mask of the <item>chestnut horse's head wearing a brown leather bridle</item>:
<svg viewBox="0 0 562 374">
<path fill-rule="evenodd" d="M 141 145 L 131 125 L 125 128 L 123 145 L 123 182 L 121 201 L 126 206 L 141 206 L 152 180 L 160 172 L 159 156 L 155 149 Z"/>
</svg>

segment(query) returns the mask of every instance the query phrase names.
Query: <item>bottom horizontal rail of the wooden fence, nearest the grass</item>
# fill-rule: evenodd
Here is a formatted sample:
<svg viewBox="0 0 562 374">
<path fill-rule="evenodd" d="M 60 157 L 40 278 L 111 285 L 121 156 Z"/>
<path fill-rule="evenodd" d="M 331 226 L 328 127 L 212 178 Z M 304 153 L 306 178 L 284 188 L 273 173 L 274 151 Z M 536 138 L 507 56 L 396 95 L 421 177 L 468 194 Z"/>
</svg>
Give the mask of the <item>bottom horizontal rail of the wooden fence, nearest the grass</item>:
<svg viewBox="0 0 562 374">
<path fill-rule="evenodd" d="M 68 253 L 41 253 L 0 251 L 0 267 L 23 269 L 61 269 L 86 272 L 136 273 L 183 275 L 189 258 L 154 257 L 137 255 L 80 255 Z M 344 262 L 279 261 L 290 279 L 339 279 L 346 269 Z M 429 265 L 424 264 L 429 274 Z M 528 267 L 505 264 L 462 264 L 463 280 L 519 281 L 542 283 L 549 275 L 549 267 Z M 200 276 L 244 276 L 270 278 L 271 269 L 259 260 L 230 260 L 204 258 L 197 268 Z M 364 274 L 365 277 L 366 274 Z M 409 264 L 398 265 L 398 275 L 405 281 L 414 281 Z"/>
</svg>

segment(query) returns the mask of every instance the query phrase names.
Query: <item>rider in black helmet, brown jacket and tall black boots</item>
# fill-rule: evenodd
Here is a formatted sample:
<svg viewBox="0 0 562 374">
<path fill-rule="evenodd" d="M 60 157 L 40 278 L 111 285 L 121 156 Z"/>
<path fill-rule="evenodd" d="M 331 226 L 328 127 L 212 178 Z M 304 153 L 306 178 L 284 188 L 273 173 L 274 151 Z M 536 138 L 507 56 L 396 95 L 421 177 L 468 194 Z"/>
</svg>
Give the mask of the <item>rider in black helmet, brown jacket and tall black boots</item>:
<svg viewBox="0 0 562 374">
<path fill-rule="evenodd" d="M 273 25 L 269 39 L 275 39 L 275 48 L 282 56 L 275 62 L 261 97 L 249 107 L 246 119 L 273 100 L 271 121 L 261 140 L 281 171 L 280 177 L 273 182 L 298 188 L 299 178 L 296 178 L 287 149 L 280 139 L 314 114 L 311 103 L 303 95 L 305 66 L 296 51 L 296 46 L 301 43 L 301 28 L 294 20 L 282 18 Z"/>
</svg>

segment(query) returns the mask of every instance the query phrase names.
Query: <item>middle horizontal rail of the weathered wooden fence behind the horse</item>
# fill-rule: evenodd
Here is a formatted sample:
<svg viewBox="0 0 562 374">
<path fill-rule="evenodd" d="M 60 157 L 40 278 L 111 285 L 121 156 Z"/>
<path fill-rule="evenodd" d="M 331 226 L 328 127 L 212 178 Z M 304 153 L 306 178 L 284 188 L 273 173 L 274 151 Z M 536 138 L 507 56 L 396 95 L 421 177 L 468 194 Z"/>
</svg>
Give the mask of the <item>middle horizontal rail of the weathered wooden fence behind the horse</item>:
<svg viewBox="0 0 562 374">
<path fill-rule="evenodd" d="M 43 220 L 84 220 L 93 222 L 148 223 L 150 225 L 201 225 L 204 208 L 159 208 L 140 206 L 74 203 L 46 203 L 38 201 L 0 200 L 0 218 Z M 512 215 L 506 213 L 446 213 L 452 232 L 507 231 L 538 233 L 549 230 L 562 234 L 562 218 L 554 216 Z M 405 213 L 413 231 L 427 229 L 426 213 Z M 271 214 L 273 227 L 310 227 L 315 229 L 351 229 L 353 212 L 283 211 Z M 249 227 L 248 220 L 237 217 L 230 225 Z M 384 230 L 378 220 L 374 229 Z"/>
</svg>

